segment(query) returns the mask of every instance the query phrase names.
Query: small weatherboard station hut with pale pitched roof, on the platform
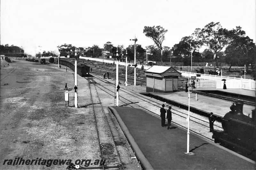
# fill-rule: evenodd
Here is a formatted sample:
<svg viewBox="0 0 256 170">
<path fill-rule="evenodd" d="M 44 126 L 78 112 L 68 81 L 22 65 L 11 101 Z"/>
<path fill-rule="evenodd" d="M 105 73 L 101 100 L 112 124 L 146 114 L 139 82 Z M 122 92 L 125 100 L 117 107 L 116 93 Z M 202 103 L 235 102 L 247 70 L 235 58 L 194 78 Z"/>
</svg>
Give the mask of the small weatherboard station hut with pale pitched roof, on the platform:
<svg viewBox="0 0 256 170">
<path fill-rule="evenodd" d="M 154 65 L 144 72 L 147 78 L 146 92 L 178 91 L 178 78 L 181 73 L 174 68 Z"/>
</svg>

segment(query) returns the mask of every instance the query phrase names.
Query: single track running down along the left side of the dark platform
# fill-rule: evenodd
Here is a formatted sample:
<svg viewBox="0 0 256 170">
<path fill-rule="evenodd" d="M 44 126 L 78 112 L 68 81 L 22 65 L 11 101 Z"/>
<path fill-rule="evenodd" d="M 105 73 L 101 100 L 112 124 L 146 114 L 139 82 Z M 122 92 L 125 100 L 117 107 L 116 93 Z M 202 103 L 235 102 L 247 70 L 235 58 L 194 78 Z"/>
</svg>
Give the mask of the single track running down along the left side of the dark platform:
<svg viewBox="0 0 256 170">
<path fill-rule="evenodd" d="M 107 116 L 104 111 L 104 107 L 101 104 L 100 97 L 95 85 L 95 81 L 92 78 L 86 78 L 89 83 L 90 96 L 92 101 L 93 115 L 95 119 L 95 126 L 97 130 L 98 144 L 100 157 L 103 160 L 107 160 L 105 164 L 101 165 L 101 168 L 119 170 L 124 169 L 122 160 L 118 153 L 116 143 L 109 126 Z M 111 141 L 111 142 L 110 142 Z M 113 146 L 114 149 L 111 149 Z M 113 151 L 113 152 L 111 152 Z M 116 165 L 116 162 L 118 164 Z M 113 165 L 112 165 L 113 164 Z"/>
</svg>

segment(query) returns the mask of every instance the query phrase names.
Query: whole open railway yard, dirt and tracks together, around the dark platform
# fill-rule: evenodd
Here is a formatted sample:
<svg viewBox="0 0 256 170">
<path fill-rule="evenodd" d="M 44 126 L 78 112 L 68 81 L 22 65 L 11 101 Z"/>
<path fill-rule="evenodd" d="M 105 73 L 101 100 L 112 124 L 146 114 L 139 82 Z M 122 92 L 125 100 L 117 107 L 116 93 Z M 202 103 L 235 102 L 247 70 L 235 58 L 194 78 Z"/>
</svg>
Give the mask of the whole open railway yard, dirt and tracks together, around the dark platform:
<svg viewBox="0 0 256 170">
<path fill-rule="evenodd" d="M 58 69 L 56 63 L 43 65 L 17 60 L 7 65 L 6 61 L 1 62 L 0 169 L 68 167 L 53 163 L 50 166 L 47 163 L 3 165 L 4 160 L 14 158 L 71 159 L 74 164 L 76 160 L 91 159 L 91 164 L 79 164 L 103 169 L 142 168 L 108 108 L 116 102 L 114 74 L 103 79 L 102 72 L 95 68 L 91 74 L 93 77 L 78 76 L 78 108 L 75 108 L 73 70 L 66 71 L 65 66 Z M 132 83 L 132 78 L 129 81 Z M 142 94 L 146 92 L 145 79 L 139 78 L 137 82 L 137 86 L 121 83 L 119 106 L 143 109 L 159 117 L 164 102 Z M 69 104 L 64 100 L 66 83 L 72 89 Z M 187 116 L 188 110 L 172 106 L 172 122 L 176 125 L 186 128 Z M 157 123 L 160 126 L 160 121 Z M 223 130 L 221 122 L 214 122 L 214 129 Z M 207 117 L 191 112 L 190 130 L 214 143 Z"/>
</svg>

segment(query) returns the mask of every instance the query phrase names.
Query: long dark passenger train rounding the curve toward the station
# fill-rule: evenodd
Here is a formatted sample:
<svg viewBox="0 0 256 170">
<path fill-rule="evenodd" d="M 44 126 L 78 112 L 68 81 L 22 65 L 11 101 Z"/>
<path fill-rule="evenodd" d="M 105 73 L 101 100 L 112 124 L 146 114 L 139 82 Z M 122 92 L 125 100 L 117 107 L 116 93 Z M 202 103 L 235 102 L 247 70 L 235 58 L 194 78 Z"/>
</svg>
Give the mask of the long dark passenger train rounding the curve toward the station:
<svg viewBox="0 0 256 170">
<path fill-rule="evenodd" d="M 72 60 L 67 60 L 60 58 L 59 64 L 65 65 L 72 70 L 75 70 L 74 62 Z M 90 67 L 82 64 L 77 64 L 77 73 L 82 77 L 91 77 L 90 75 Z"/>
</svg>

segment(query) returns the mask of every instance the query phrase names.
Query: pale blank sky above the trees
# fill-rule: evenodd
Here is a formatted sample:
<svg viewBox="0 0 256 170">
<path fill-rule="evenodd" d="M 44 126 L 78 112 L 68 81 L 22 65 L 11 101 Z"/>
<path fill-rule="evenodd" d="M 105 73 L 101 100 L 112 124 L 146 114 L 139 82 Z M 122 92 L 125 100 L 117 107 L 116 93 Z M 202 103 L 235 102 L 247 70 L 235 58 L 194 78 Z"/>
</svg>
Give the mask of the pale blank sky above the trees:
<svg viewBox="0 0 256 170">
<path fill-rule="evenodd" d="M 92 47 L 110 41 L 124 48 L 134 41 L 143 48 L 154 42 L 144 26 L 167 29 L 163 46 L 210 22 L 223 28 L 241 26 L 256 39 L 256 0 L 1 0 L 0 43 L 25 53 L 56 51 L 64 43 Z M 40 46 L 40 47 L 38 47 Z"/>
</svg>

